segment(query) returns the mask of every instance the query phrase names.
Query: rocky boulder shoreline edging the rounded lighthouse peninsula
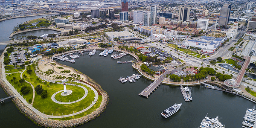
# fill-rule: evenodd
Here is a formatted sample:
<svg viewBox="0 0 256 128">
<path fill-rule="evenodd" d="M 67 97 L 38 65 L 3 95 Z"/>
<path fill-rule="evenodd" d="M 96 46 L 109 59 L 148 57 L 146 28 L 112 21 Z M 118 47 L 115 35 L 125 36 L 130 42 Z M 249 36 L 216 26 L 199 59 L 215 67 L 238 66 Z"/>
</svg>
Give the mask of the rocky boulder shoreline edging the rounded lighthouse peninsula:
<svg viewBox="0 0 256 128">
<path fill-rule="evenodd" d="M 7 47 L 4 49 L 3 53 L 6 52 L 6 49 L 7 49 Z M 3 58 L 3 54 L 1 54 L 0 58 Z M 3 62 L 0 64 L 0 67 L 1 67 L 0 70 L 2 71 Z M 69 68 L 70 70 L 74 70 L 78 74 L 81 74 L 72 67 L 68 67 L 66 65 L 65 65 L 65 67 Z M 102 88 L 99 84 L 94 82 L 93 79 L 90 79 L 90 77 L 88 77 L 84 74 L 81 74 L 81 75 L 85 76 L 88 79 L 87 82 L 90 82 L 90 84 L 92 84 L 93 86 L 96 86 L 97 89 L 102 93 L 102 102 L 101 102 L 99 108 L 96 108 L 95 111 L 88 114 L 87 116 L 83 116 L 83 117 L 80 117 L 80 118 L 77 118 L 77 119 L 70 119 L 70 120 L 49 119 L 49 118 L 39 116 L 37 113 L 35 113 L 35 111 L 32 111 L 28 107 L 29 105 L 26 106 L 23 102 L 20 101 L 20 99 L 17 96 L 12 98 L 12 101 L 15 103 L 15 105 L 17 106 L 17 108 L 19 109 L 19 111 L 21 113 L 23 113 L 26 117 L 28 117 L 33 122 L 35 122 L 35 124 L 38 124 L 38 125 L 41 125 L 41 126 L 44 126 L 44 127 L 68 128 L 68 127 L 75 127 L 75 126 L 84 124 L 86 122 L 89 122 L 89 121 L 95 119 L 97 116 L 99 116 L 106 109 L 106 107 L 108 105 L 108 102 L 109 102 L 109 99 L 108 99 L 108 93 L 106 93 L 104 90 L 102 90 Z M 0 75 L 0 78 L 3 79 L 3 74 Z M 15 93 L 12 91 L 12 89 L 3 80 L 0 81 L 0 85 L 3 88 L 3 90 L 6 92 L 7 95 L 9 95 L 9 96 L 14 96 L 15 95 Z"/>
</svg>

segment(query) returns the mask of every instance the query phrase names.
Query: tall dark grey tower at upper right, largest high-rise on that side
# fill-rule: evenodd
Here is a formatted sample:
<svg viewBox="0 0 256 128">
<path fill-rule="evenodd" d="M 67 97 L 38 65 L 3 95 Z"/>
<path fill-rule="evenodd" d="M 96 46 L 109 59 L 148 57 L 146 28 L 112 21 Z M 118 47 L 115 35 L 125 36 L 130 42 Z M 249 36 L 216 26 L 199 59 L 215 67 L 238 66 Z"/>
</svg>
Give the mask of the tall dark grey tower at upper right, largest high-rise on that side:
<svg viewBox="0 0 256 128">
<path fill-rule="evenodd" d="M 220 20 L 218 25 L 224 26 L 227 25 L 230 18 L 231 5 L 229 3 L 224 3 L 221 8 Z"/>
</svg>

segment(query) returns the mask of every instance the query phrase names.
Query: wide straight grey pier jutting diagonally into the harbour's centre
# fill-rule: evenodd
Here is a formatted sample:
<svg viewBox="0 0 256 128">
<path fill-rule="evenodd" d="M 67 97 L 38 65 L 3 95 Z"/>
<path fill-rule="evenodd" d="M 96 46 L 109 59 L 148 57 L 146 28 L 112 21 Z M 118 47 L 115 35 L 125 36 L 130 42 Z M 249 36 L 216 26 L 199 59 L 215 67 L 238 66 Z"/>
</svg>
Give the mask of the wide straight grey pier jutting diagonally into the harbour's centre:
<svg viewBox="0 0 256 128">
<path fill-rule="evenodd" d="M 140 94 L 139 96 L 145 96 L 148 98 L 148 96 L 153 93 L 159 87 L 159 85 L 162 83 L 162 80 L 165 79 L 165 76 L 169 74 L 170 71 L 166 70 L 157 80 L 155 80 L 153 83 L 149 84 L 148 87 L 146 87 Z"/>
</svg>

